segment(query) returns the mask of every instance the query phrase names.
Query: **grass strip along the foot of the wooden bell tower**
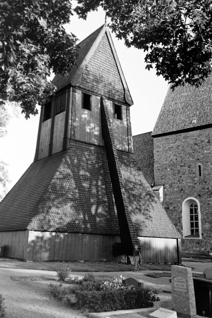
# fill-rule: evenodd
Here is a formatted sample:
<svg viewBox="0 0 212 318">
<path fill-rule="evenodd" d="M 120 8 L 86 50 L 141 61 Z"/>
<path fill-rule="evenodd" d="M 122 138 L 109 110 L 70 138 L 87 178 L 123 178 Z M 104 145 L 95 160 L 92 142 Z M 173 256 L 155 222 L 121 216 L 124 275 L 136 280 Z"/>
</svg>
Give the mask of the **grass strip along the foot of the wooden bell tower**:
<svg viewBox="0 0 212 318">
<path fill-rule="evenodd" d="M 171 265 L 140 264 L 141 270 L 171 271 Z M 118 262 L 22 262 L 17 259 L 0 258 L 0 268 L 39 269 L 45 271 L 59 271 L 69 267 L 72 272 L 127 272 L 133 271 L 133 265 Z"/>
</svg>

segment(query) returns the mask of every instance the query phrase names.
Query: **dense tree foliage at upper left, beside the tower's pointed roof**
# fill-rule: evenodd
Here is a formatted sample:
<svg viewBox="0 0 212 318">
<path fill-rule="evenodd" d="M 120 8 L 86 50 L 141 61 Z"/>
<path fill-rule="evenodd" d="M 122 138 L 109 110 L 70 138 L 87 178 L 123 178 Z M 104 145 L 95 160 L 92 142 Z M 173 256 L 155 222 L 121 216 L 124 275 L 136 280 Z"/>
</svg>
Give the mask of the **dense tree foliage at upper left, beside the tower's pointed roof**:
<svg viewBox="0 0 212 318">
<path fill-rule="evenodd" d="M 63 27 L 71 15 L 69 0 L 0 3 L 0 99 L 19 102 L 26 118 L 54 92 L 50 72 L 68 72 L 75 63 L 77 39 Z"/>
</svg>

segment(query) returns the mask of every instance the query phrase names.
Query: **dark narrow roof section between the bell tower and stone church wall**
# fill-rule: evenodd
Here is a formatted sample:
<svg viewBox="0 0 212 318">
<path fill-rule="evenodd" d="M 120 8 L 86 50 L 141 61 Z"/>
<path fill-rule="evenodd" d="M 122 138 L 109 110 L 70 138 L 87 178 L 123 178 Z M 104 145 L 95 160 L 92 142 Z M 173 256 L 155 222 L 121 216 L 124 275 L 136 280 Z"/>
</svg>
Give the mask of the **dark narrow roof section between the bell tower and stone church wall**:
<svg viewBox="0 0 212 318">
<path fill-rule="evenodd" d="M 150 186 L 154 183 L 154 144 L 152 132 L 133 136 L 133 152 L 137 165 Z"/>
</svg>

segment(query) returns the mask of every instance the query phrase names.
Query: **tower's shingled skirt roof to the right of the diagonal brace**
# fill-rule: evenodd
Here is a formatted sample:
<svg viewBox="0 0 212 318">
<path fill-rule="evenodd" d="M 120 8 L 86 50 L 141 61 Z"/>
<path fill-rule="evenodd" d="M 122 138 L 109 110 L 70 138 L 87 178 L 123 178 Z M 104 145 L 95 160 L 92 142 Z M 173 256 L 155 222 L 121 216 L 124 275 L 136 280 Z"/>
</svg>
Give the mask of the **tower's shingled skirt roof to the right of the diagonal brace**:
<svg viewBox="0 0 212 318">
<path fill-rule="evenodd" d="M 136 165 L 133 154 L 117 151 L 122 182 L 136 236 L 181 238 Z"/>
</svg>

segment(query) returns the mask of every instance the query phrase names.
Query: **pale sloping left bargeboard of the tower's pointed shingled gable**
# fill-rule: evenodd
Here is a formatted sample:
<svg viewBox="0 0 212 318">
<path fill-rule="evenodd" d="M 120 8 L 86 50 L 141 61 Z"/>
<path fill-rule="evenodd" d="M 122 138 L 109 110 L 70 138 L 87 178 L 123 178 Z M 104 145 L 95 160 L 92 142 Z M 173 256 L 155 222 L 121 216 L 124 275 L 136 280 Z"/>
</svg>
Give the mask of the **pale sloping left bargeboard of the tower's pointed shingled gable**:
<svg viewBox="0 0 212 318">
<path fill-rule="evenodd" d="M 97 29 L 98 30 L 98 29 Z M 97 46 L 99 45 L 99 42 L 101 41 L 103 35 L 105 34 L 106 31 L 106 25 L 103 24 L 102 26 L 102 30 L 100 31 L 98 37 L 95 39 L 95 41 L 93 42 L 90 50 L 88 51 L 88 53 L 86 54 L 84 60 L 82 61 L 82 63 L 80 64 L 77 72 L 74 74 L 74 77 L 72 79 L 72 86 L 79 86 L 80 85 L 80 81 L 81 81 L 81 77 L 82 77 L 82 73 L 85 70 L 85 67 L 87 66 L 87 64 L 89 63 L 93 53 L 95 52 Z M 95 31 L 94 31 L 95 32 Z M 93 32 L 93 33 L 94 33 Z M 90 36 L 90 35 L 89 35 Z M 83 40 L 84 41 L 84 40 Z"/>
</svg>

